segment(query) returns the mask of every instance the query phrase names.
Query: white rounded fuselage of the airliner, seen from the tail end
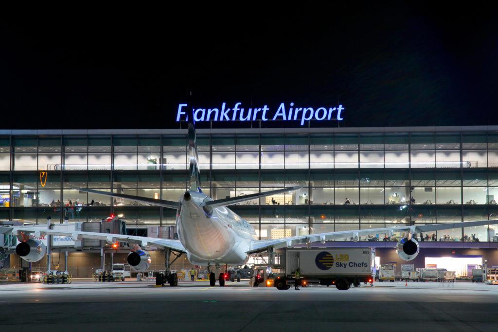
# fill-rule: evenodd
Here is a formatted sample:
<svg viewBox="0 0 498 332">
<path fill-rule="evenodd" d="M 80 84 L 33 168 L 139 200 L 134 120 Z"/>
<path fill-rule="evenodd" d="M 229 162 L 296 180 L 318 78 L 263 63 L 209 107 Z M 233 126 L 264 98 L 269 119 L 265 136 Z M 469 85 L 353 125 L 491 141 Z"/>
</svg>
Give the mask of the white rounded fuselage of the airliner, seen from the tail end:
<svg viewBox="0 0 498 332">
<path fill-rule="evenodd" d="M 226 207 L 201 206 L 207 201 L 212 199 L 197 191 L 180 198 L 176 225 L 188 260 L 196 265 L 245 264 L 250 241 L 257 239 L 254 228 Z"/>
</svg>

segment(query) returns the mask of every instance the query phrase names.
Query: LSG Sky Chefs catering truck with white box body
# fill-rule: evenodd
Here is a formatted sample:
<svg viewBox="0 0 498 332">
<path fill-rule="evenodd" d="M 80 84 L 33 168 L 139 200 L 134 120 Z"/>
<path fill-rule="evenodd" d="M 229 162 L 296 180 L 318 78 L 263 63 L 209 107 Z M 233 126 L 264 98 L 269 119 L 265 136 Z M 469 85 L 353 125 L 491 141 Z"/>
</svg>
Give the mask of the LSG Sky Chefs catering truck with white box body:
<svg viewBox="0 0 498 332">
<path fill-rule="evenodd" d="M 273 285 L 289 289 L 298 282 L 307 285 L 335 285 L 347 290 L 362 282 L 373 285 L 375 276 L 375 249 L 373 248 L 286 248 L 280 254 L 280 270 L 274 274 Z M 299 268 L 301 277 L 295 278 Z"/>
</svg>

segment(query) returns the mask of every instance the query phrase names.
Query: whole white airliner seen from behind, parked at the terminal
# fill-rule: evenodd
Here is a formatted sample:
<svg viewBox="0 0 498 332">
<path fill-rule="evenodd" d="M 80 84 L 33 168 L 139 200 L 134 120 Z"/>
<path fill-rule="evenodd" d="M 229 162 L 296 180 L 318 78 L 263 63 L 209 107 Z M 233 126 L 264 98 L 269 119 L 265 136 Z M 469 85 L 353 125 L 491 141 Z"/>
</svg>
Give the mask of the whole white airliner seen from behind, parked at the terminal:
<svg viewBox="0 0 498 332">
<path fill-rule="evenodd" d="M 191 117 L 193 118 L 193 116 Z M 358 241 L 360 236 L 375 234 L 390 234 L 404 232 L 398 241 L 396 251 L 404 260 L 412 260 L 419 253 L 419 244 L 414 238 L 415 233 L 437 231 L 442 229 L 472 227 L 497 224 L 498 220 L 449 222 L 425 225 L 402 225 L 383 228 L 334 231 L 308 235 L 298 235 L 279 239 L 258 240 L 256 232 L 249 222 L 227 208 L 230 205 L 259 199 L 266 196 L 281 194 L 302 188 L 302 186 L 287 187 L 256 193 L 242 197 L 213 200 L 202 192 L 198 163 L 196 132 L 193 122 L 188 123 L 190 188 L 178 202 L 151 199 L 132 195 L 103 192 L 85 188 L 73 188 L 80 192 L 100 194 L 125 200 L 136 201 L 149 205 L 175 209 L 178 240 L 162 239 L 126 234 L 109 234 L 85 231 L 57 230 L 34 226 L 0 226 L 0 233 L 17 236 L 19 244 L 16 253 L 27 261 L 38 261 L 46 253 L 44 244 L 37 240 L 43 235 L 71 236 L 73 240 L 82 238 L 105 240 L 110 244 L 117 241 L 128 242 L 131 250 L 127 261 L 138 272 L 145 271 L 150 265 L 150 255 L 144 249 L 153 245 L 165 249 L 166 278 L 170 286 L 177 284 L 176 274 L 169 273 L 171 251 L 186 253 L 190 263 L 208 266 L 209 281 L 215 286 L 219 280 L 220 286 L 225 285 L 224 274 L 227 266 L 241 266 L 248 262 L 249 255 L 271 251 L 296 244 L 312 242 L 325 243 L 327 240 L 352 238 Z M 174 260 L 173 260 L 174 261 Z M 223 272 L 223 267 L 225 272 Z"/>
</svg>

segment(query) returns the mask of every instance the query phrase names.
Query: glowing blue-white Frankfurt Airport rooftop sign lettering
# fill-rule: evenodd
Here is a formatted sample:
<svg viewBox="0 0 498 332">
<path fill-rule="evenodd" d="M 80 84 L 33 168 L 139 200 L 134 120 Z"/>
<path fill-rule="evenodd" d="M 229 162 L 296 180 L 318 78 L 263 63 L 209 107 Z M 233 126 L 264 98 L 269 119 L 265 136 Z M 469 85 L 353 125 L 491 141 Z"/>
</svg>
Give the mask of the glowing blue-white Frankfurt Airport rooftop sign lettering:
<svg viewBox="0 0 498 332">
<path fill-rule="evenodd" d="M 344 107 L 295 107 L 294 103 L 280 106 L 271 110 L 264 105 L 261 108 L 243 108 L 242 103 L 227 107 L 227 103 L 222 103 L 219 108 L 212 109 L 192 109 L 194 121 L 300 121 L 303 125 L 310 120 L 338 120 L 341 121 Z M 176 122 L 188 121 L 187 104 L 179 104 L 176 112 Z"/>
</svg>

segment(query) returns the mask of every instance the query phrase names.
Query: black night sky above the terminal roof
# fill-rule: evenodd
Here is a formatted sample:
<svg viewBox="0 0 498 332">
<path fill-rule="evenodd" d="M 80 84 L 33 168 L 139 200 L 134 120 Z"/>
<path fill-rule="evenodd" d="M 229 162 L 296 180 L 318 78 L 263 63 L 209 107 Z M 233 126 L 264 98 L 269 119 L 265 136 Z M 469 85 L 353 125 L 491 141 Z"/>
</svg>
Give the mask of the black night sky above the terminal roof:
<svg viewBox="0 0 498 332">
<path fill-rule="evenodd" d="M 347 127 L 498 125 L 496 10 L 469 5 L 2 21 L 0 127 L 174 128 L 187 91 L 206 108 L 342 104 Z"/>
</svg>

